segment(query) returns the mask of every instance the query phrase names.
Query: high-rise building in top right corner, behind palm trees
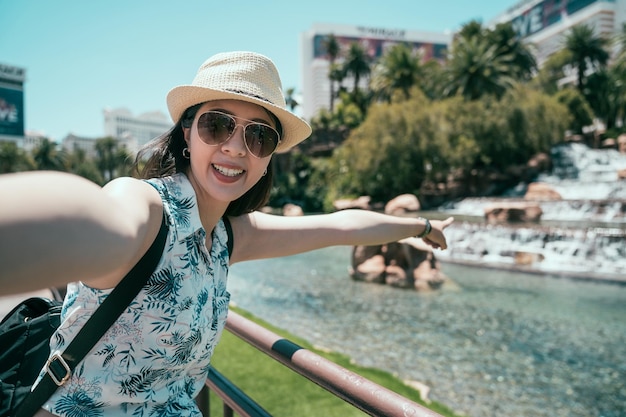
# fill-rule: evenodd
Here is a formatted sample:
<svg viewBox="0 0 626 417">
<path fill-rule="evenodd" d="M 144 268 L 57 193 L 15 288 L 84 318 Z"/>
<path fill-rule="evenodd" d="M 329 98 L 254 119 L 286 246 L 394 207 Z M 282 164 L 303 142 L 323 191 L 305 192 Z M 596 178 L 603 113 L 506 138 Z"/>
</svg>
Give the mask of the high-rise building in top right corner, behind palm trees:
<svg viewBox="0 0 626 417">
<path fill-rule="evenodd" d="M 524 0 L 491 22 L 511 22 L 517 34 L 534 45 L 537 63 L 563 48 L 568 31 L 579 24 L 592 27 L 606 38 L 622 30 L 626 22 L 626 0 Z"/>
</svg>

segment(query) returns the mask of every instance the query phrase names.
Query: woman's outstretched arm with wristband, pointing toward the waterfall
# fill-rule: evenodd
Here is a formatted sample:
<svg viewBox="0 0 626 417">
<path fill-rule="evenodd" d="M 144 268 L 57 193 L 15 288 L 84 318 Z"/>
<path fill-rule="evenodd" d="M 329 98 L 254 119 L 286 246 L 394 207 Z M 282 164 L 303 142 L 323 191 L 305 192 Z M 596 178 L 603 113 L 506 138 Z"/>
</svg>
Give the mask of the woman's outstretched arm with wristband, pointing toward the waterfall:
<svg viewBox="0 0 626 417">
<path fill-rule="evenodd" d="M 443 233 L 454 219 L 432 220 L 424 242 L 446 249 Z M 231 219 L 234 249 L 231 262 L 293 255 L 336 245 L 380 245 L 419 235 L 423 220 L 367 210 L 283 217 L 254 212 Z"/>
</svg>

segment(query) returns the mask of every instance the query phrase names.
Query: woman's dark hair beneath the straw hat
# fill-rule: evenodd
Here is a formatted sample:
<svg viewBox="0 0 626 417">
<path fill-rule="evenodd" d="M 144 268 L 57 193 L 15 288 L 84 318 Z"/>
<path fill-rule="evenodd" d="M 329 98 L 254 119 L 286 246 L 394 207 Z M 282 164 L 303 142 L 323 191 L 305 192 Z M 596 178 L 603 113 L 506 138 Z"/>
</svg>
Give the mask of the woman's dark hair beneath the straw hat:
<svg viewBox="0 0 626 417">
<path fill-rule="evenodd" d="M 135 157 L 134 168 L 138 178 L 161 178 L 177 172 L 186 173 L 189 159 L 183 156 L 187 147 L 183 127 L 190 127 L 198 109 L 204 103 L 189 107 L 183 112 L 180 120 L 170 130 L 144 145 Z M 282 135 L 282 126 L 278 118 L 271 112 L 269 115 L 276 123 L 276 130 Z M 225 215 L 239 216 L 260 209 L 267 204 L 272 191 L 274 178 L 273 161 L 267 166 L 267 173 L 254 184 L 244 195 L 231 201 Z"/>
</svg>

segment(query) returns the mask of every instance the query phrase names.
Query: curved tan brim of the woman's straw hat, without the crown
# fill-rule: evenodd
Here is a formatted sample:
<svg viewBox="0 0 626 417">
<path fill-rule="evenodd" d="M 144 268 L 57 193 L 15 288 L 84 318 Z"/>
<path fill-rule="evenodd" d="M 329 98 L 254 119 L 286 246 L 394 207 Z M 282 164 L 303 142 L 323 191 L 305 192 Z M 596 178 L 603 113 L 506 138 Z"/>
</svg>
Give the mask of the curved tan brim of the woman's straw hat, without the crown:
<svg viewBox="0 0 626 417">
<path fill-rule="evenodd" d="M 178 123 L 183 112 L 189 107 L 214 100 L 246 101 L 272 112 L 280 121 L 283 131 L 276 152 L 286 152 L 311 135 L 311 126 L 290 111 L 259 98 L 231 91 L 214 90 L 194 85 L 181 85 L 172 88 L 167 94 L 167 107 L 174 123 Z"/>
</svg>

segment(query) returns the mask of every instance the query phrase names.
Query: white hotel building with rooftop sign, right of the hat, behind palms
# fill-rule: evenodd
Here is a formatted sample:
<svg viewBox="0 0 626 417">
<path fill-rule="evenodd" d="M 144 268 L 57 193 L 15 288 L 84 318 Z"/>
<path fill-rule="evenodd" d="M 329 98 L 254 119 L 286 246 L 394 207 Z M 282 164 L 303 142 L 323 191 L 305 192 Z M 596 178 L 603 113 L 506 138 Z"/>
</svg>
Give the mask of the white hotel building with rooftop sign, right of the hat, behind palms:
<svg viewBox="0 0 626 417">
<path fill-rule="evenodd" d="M 363 26 L 318 24 L 301 34 L 302 95 L 301 116 L 313 117 L 321 108 L 330 106 L 330 63 L 325 41 L 333 35 L 341 50 L 345 51 L 353 42 L 359 42 L 369 56 L 379 58 L 385 50 L 397 43 L 406 43 L 423 51 L 425 60 L 443 59 L 452 35 L 434 32 L 415 32 L 404 29 L 383 29 Z M 347 82 L 348 80 L 346 80 Z M 366 82 L 366 80 L 364 80 Z"/>
</svg>

